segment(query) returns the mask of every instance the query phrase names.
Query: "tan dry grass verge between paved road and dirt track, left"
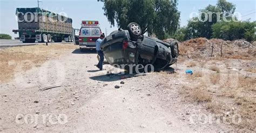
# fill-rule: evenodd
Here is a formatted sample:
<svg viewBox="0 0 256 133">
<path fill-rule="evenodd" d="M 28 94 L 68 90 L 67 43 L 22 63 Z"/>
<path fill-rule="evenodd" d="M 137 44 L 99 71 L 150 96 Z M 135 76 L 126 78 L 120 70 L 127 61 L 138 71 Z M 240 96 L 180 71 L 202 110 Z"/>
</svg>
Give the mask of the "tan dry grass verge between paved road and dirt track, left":
<svg viewBox="0 0 256 133">
<path fill-rule="evenodd" d="M 66 50 L 75 49 L 74 45 L 36 45 L 11 47 L 0 51 L 0 83 L 14 78 L 15 72 L 37 67 L 46 60 L 55 58 Z"/>
</svg>

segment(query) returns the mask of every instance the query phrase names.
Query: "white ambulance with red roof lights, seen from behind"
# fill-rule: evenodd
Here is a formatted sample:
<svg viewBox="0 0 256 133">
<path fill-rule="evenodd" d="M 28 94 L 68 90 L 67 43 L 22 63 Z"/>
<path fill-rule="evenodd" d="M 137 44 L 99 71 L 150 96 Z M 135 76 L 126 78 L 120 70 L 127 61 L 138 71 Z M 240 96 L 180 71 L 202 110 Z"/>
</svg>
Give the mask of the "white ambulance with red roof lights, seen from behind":
<svg viewBox="0 0 256 133">
<path fill-rule="evenodd" d="M 79 48 L 96 49 L 96 41 L 102 34 L 98 21 L 82 21 L 79 33 Z"/>
</svg>

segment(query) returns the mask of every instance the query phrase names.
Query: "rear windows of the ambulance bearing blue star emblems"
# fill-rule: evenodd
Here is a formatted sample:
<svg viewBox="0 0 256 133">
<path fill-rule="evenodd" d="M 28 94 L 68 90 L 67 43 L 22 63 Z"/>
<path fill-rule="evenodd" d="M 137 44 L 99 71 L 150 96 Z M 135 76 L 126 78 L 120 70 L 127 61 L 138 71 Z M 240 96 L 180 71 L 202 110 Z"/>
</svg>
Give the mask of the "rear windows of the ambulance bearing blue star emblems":
<svg viewBox="0 0 256 133">
<path fill-rule="evenodd" d="M 97 27 L 81 28 L 81 36 L 100 36 L 100 29 Z"/>
</svg>

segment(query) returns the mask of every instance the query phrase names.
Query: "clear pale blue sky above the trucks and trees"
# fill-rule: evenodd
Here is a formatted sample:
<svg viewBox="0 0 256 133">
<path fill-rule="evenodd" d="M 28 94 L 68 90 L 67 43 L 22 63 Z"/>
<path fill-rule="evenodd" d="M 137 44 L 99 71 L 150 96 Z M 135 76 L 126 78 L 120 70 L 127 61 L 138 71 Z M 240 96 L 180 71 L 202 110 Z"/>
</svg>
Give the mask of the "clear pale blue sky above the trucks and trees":
<svg viewBox="0 0 256 133">
<path fill-rule="evenodd" d="M 100 28 L 107 34 L 118 27 L 111 27 L 106 16 L 104 16 L 103 2 L 97 0 L 39 0 L 39 6 L 43 9 L 56 13 L 65 12 L 73 19 L 73 27 L 80 28 L 82 20 L 98 20 Z M 256 20 L 255 0 L 227 0 L 236 5 L 236 11 L 242 15 L 242 20 Z M 207 5 L 215 5 L 217 0 L 178 0 L 178 10 L 180 11 L 180 26 L 185 26 L 190 18 L 191 12 L 198 12 Z M 18 29 L 16 21 L 16 8 L 35 8 L 37 0 L 0 0 L 0 33 L 10 34 L 12 38 L 17 34 L 12 33 L 12 29 Z"/>
</svg>

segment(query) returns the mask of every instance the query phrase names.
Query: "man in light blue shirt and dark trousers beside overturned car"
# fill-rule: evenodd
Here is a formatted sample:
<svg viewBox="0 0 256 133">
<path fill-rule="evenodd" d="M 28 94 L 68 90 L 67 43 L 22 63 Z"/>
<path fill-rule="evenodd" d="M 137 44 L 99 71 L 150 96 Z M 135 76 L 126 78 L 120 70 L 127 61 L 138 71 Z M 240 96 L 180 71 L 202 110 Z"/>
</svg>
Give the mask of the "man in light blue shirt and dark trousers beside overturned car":
<svg viewBox="0 0 256 133">
<path fill-rule="evenodd" d="M 103 61 L 104 61 L 104 54 L 103 54 L 103 51 L 100 49 L 100 43 L 102 42 L 102 39 L 105 38 L 105 35 L 102 34 L 100 35 L 99 39 L 96 41 L 96 51 L 99 55 L 99 63 L 97 64 L 97 68 L 99 68 L 99 70 L 101 71 L 102 68 L 103 68 Z"/>
</svg>

